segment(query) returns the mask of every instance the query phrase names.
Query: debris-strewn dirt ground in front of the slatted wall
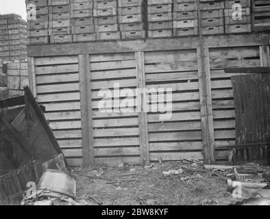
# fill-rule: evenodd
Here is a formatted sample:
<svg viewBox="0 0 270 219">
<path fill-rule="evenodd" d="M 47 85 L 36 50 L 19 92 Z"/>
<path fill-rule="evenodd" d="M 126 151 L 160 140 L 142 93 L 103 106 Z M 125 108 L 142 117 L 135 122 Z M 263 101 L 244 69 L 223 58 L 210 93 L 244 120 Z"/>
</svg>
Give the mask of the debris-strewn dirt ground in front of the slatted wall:
<svg viewBox="0 0 270 219">
<path fill-rule="evenodd" d="M 162 174 L 169 170 L 179 171 Z M 226 193 L 225 179 L 199 163 L 89 166 L 75 168 L 73 174 L 77 201 L 88 205 L 217 205 Z"/>
</svg>

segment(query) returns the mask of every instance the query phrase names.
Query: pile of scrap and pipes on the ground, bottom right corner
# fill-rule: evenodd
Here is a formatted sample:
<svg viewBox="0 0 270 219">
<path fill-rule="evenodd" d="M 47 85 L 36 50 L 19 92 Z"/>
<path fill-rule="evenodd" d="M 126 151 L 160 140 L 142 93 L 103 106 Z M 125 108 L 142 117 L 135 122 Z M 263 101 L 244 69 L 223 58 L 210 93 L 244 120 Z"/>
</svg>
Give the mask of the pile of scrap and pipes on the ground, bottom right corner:
<svg viewBox="0 0 270 219">
<path fill-rule="evenodd" d="M 239 166 L 205 165 L 215 172 L 226 170 L 228 197 L 219 205 L 270 205 L 270 166 L 247 163 Z"/>
</svg>

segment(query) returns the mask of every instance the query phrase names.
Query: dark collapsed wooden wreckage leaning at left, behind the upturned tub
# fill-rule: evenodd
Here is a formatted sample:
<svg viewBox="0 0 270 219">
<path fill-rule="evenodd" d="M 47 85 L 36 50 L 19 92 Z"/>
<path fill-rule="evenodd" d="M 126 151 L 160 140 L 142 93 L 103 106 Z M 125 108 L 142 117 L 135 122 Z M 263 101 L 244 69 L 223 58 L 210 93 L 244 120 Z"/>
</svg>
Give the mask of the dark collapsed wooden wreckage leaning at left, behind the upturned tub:
<svg viewBox="0 0 270 219">
<path fill-rule="evenodd" d="M 26 86 L 24 96 L 0 101 L 0 199 L 22 197 L 27 183 L 45 170 L 66 172 L 69 164 L 45 116 Z"/>
</svg>

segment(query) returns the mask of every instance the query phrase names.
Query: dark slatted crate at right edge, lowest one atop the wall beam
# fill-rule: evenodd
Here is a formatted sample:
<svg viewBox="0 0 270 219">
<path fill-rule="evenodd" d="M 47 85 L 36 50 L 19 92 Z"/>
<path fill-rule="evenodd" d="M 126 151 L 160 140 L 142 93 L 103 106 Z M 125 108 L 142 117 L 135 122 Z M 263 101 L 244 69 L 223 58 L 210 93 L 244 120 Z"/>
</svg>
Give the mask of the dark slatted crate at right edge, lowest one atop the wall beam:
<svg viewBox="0 0 270 219">
<path fill-rule="evenodd" d="M 252 31 L 270 30 L 270 11 L 252 12 Z"/>
</svg>

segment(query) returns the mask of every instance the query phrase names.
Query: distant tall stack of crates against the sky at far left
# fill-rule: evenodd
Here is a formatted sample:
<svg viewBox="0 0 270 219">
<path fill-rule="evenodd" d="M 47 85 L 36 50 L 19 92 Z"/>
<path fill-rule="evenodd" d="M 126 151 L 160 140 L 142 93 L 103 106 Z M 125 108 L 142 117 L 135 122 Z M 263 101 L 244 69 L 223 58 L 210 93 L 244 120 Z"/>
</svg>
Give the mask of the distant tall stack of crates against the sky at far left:
<svg viewBox="0 0 270 219">
<path fill-rule="evenodd" d="M 0 58 L 3 62 L 27 58 L 26 24 L 17 14 L 0 15 Z"/>
</svg>

